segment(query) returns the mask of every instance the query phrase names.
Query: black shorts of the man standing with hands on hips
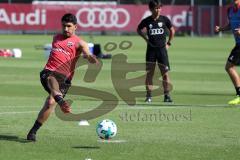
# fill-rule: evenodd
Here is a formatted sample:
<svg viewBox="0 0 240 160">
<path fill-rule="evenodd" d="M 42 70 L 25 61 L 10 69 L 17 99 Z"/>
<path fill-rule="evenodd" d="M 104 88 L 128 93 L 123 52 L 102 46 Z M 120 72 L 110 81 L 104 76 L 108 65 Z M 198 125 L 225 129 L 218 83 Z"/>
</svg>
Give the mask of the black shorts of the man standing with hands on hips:
<svg viewBox="0 0 240 160">
<path fill-rule="evenodd" d="M 146 53 L 146 70 L 148 70 L 152 64 L 155 65 L 156 62 L 158 63 L 159 69 L 163 71 L 170 70 L 166 47 L 153 48 L 148 46 Z"/>
</svg>

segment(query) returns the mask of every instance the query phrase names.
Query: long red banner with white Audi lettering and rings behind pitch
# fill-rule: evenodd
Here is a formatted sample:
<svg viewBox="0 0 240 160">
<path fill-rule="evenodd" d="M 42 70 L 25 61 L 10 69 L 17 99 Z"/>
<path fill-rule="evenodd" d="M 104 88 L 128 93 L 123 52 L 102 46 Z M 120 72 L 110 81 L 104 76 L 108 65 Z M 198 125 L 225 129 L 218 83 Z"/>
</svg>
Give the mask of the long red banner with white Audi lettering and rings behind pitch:
<svg viewBox="0 0 240 160">
<path fill-rule="evenodd" d="M 151 13 L 147 5 L 29 5 L 0 4 L 0 30 L 59 31 L 60 18 L 73 13 L 79 31 L 135 32 L 138 23 Z M 193 26 L 189 6 L 164 6 L 162 14 L 170 18 L 177 31 Z"/>
</svg>

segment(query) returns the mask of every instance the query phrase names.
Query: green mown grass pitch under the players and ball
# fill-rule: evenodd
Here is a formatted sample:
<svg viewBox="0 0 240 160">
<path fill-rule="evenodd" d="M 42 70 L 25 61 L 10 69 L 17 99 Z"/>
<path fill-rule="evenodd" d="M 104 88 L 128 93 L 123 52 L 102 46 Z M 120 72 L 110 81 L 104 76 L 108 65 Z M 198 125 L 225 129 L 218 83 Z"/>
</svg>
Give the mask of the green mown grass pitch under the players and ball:
<svg viewBox="0 0 240 160">
<path fill-rule="evenodd" d="M 1 160 L 236 160 L 240 150 L 239 106 L 228 106 L 234 88 L 224 70 L 233 47 L 232 37 L 176 37 L 169 49 L 171 92 L 174 104 L 163 97 L 145 104 L 138 98 L 128 106 L 116 93 L 111 81 L 111 60 L 94 83 L 83 81 L 86 67 L 76 71 L 73 84 L 87 86 L 118 97 L 112 112 L 93 119 L 90 126 L 66 122 L 52 113 L 39 130 L 36 143 L 27 143 L 26 134 L 47 96 L 39 82 L 39 72 L 46 63 L 42 50 L 35 45 L 51 42 L 44 35 L 0 35 L 0 48 L 21 48 L 21 59 L 0 58 L 0 159 Z M 85 36 L 86 41 L 91 38 Z M 128 40 L 132 47 L 119 49 Z M 145 42 L 137 36 L 95 36 L 104 51 L 107 42 L 117 44 L 113 56 L 125 54 L 128 63 L 143 63 Z M 137 88 L 144 90 L 144 86 Z M 72 96 L 73 112 L 91 110 L 99 100 Z M 151 115 L 155 115 L 151 117 Z M 110 142 L 99 141 L 95 127 L 102 119 L 118 126 Z"/>
</svg>

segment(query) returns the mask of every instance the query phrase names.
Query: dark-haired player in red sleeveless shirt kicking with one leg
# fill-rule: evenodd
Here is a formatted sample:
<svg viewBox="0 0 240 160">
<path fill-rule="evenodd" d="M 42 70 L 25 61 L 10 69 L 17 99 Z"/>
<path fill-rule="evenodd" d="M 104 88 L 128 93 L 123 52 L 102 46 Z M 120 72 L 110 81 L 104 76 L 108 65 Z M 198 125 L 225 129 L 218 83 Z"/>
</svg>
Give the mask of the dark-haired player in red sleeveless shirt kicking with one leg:
<svg viewBox="0 0 240 160">
<path fill-rule="evenodd" d="M 49 115 L 59 104 L 64 113 L 70 113 L 70 105 L 64 96 L 71 86 L 75 65 L 83 53 L 90 63 L 98 60 L 90 54 L 88 44 L 75 35 L 77 19 L 73 14 L 65 14 L 62 19 L 62 33 L 53 38 L 52 50 L 48 62 L 40 73 L 40 80 L 44 89 L 49 93 L 37 120 L 27 135 L 27 140 L 36 141 L 36 133 Z"/>
</svg>

